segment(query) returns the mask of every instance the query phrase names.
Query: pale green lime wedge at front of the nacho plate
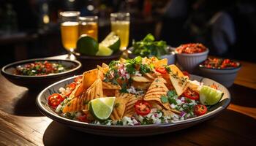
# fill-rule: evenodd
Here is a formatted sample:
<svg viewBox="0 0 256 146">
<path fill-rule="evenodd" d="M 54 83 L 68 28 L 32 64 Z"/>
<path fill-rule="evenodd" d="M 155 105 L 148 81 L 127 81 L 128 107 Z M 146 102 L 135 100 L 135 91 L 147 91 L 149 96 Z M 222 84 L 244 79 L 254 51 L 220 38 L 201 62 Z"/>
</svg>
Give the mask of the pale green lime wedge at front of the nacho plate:
<svg viewBox="0 0 256 146">
<path fill-rule="evenodd" d="M 89 102 L 89 110 L 94 118 L 107 120 L 113 110 L 116 97 L 102 97 Z"/>
</svg>

